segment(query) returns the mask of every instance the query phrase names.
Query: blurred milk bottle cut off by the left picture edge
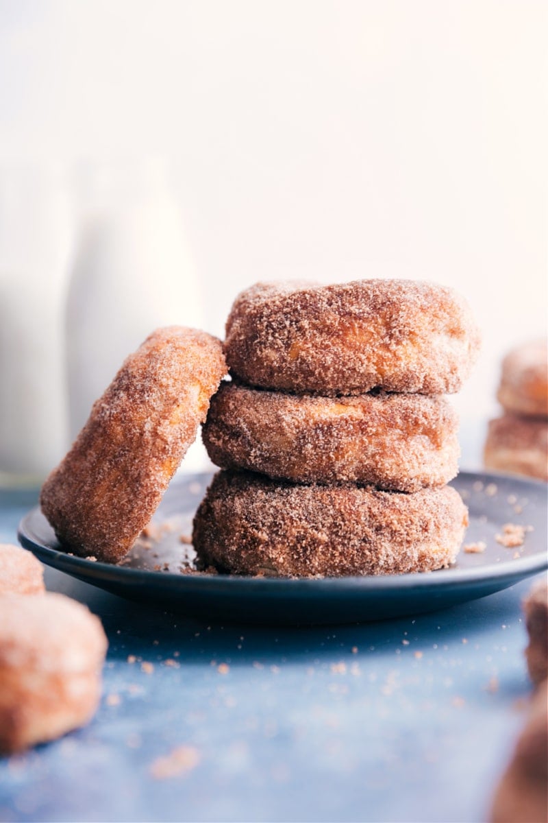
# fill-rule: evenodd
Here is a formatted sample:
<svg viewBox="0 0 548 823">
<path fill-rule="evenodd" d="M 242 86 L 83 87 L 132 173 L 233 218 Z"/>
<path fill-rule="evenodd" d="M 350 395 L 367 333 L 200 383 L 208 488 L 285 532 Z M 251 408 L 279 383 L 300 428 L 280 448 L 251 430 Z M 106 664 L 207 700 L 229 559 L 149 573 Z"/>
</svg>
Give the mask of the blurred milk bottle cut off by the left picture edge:
<svg viewBox="0 0 548 823">
<path fill-rule="evenodd" d="M 0 484 L 38 485 L 67 450 L 64 309 L 72 221 L 62 170 L 0 166 Z"/>
</svg>

